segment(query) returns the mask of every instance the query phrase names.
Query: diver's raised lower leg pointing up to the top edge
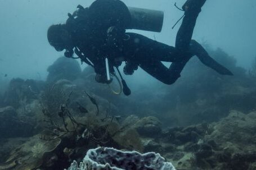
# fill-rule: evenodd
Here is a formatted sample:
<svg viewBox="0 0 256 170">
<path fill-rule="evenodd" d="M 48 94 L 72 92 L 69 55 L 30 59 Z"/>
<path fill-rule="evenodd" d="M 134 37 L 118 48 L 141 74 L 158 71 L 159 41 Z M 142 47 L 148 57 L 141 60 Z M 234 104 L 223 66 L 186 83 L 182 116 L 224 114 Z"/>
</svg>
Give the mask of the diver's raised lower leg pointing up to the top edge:
<svg viewBox="0 0 256 170">
<path fill-rule="evenodd" d="M 176 36 L 175 47 L 183 52 L 187 51 L 190 45 L 197 16 L 206 0 L 187 0 L 183 5 L 185 16 Z"/>
</svg>

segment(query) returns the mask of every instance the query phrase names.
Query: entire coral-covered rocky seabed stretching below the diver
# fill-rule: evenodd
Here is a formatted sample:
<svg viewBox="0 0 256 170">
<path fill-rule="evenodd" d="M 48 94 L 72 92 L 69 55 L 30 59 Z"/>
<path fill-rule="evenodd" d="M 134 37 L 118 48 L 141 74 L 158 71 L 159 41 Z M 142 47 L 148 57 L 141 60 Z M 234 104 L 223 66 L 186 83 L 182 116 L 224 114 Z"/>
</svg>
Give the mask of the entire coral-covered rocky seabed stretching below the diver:
<svg viewBox="0 0 256 170">
<path fill-rule="evenodd" d="M 221 49 L 210 53 L 236 76 L 223 78 L 193 58 L 176 84 L 140 86 L 129 98 L 97 84 L 91 67 L 81 73 L 63 58 L 46 82 L 12 79 L 0 99 L 0 169 L 59 170 L 73 160 L 76 169 L 87 153 L 92 164 L 120 169 L 140 168 L 149 155 L 178 170 L 256 169 L 255 75 Z"/>
</svg>

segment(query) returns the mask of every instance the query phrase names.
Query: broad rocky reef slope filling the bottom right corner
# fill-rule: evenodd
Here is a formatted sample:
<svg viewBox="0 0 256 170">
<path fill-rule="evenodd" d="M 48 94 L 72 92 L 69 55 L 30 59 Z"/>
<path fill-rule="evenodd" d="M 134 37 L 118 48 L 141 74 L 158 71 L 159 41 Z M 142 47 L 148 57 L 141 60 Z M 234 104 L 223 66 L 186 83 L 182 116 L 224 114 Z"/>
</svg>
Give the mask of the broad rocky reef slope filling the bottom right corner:
<svg viewBox="0 0 256 170">
<path fill-rule="evenodd" d="M 256 112 L 231 111 L 209 125 L 172 128 L 163 133 L 159 145 L 174 145 L 171 153 L 163 153 L 177 169 L 252 169 L 256 162 L 255 117 Z"/>
</svg>

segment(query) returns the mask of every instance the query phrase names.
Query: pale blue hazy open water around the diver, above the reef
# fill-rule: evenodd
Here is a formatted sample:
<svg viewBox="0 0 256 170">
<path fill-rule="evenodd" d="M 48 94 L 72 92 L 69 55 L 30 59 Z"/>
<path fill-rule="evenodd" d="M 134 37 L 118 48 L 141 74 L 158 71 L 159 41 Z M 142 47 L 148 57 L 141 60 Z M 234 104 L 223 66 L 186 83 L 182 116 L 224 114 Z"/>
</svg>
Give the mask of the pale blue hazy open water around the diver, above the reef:
<svg viewBox="0 0 256 170">
<path fill-rule="evenodd" d="M 68 12 L 77 4 L 88 6 L 93 1 L 1 1 L 1 73 L 11 77 L 21 76 L 41 79 L 46 77 L 46 67 L 61 56 L 47 41 L 50 25 L 64 23 Z M 159 42 L 174 45 L 179 25 L 172 26 L 182 16 L 174 7 L 176 1 L 124 1 L 127 6 L 164 11 L 161 33 L 143 32 Z M 177 1 L 182 6 L 185 1 Z M 240 66 L 248 68 L 255 57 L 256 2 L 253 0 L 207 1 L 197 20 L 193 38 L 213 48 L 222 48 L 237 59 Z M 179 22 L 181 23 L 181 22 Z M 141 33 L 140 31 L 135 32 Z M 25 62 L 24 62 L 25 61 Z M 28 68 L 28 69 L 26 69 Z"/>
</svg>

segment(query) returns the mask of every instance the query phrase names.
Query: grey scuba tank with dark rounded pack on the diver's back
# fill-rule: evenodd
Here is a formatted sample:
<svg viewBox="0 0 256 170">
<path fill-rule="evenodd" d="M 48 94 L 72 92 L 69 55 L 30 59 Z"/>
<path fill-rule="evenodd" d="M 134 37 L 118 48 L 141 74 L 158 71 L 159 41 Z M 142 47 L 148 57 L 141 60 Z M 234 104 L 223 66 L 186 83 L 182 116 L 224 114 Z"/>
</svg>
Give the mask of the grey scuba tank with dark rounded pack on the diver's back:
<svg viewBox="0 0 256 170">
<path fill-rule="evenodd" d="M 118 23 L 124 29 L 160 32 L 164 20 L 163 11 L 128 7 L 119 0 L 96 0 L 89 6 L 89 11 L 93 20 L 101 21 L 99 25 L 102 27 L 109 26 L 110 23 Z"/>
</svg>

